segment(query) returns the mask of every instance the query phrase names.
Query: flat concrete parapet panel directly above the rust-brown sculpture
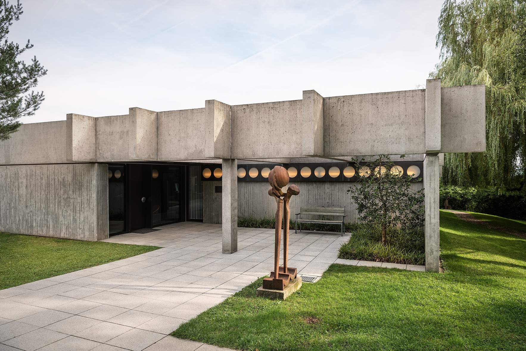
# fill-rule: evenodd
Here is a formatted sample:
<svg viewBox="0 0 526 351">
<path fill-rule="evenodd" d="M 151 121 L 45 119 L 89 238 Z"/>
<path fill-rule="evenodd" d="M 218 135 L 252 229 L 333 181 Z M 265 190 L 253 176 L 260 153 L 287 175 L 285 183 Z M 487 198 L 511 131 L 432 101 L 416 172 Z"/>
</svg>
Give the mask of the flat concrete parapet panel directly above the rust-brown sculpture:
<svg viewBox="0 0 526 351">
<path fill-rule="evenodd" d="M 301 100 L 232 105 L 232 158 L 302 156 Z"/>
</svg>

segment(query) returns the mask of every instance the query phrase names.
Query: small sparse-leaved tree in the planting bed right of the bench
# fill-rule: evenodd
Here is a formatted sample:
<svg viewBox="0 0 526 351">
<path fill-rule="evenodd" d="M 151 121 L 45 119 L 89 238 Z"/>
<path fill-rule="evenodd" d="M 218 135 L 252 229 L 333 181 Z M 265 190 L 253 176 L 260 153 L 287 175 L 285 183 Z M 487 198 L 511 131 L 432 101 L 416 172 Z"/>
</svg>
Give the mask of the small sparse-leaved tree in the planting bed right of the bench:
<svg viewBox="0 0 526 351">
<path fill-rule="evenodd" d="M 403 158 L 405 155 L 401 155 Z M 400 225 L 412 230 L 424 224 L 424 189 L 413 190 L 418 182 L 403 175 L 389 155 L 379 155 L 374 161 L 353 159 L 358 172 L 358 185 L 347 190 L 358 207 L 359 220 L 381 229 L 382 244 L 387 242 L 387 228 Z"/>
</svg>

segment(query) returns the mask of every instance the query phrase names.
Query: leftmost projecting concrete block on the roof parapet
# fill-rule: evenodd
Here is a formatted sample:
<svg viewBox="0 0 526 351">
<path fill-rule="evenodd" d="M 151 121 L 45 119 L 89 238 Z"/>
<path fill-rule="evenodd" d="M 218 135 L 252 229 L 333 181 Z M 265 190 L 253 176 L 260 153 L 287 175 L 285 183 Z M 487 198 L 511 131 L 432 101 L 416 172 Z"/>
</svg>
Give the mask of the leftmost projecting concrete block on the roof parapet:
<svg viewBox="0 0 526 351">
<path fill-rule="evenodd" d="M 96 161 L 95 117 L 66 115 L 66 161 Z"/>
</svg>

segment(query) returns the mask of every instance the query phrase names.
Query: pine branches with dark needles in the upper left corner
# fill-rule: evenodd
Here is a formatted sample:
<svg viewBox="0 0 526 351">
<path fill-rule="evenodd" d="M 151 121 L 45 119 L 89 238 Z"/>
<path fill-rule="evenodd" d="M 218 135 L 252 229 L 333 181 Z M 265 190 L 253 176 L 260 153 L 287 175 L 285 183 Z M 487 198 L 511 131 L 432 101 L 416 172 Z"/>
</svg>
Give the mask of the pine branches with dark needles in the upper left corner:
<svg viewBox="0 0 526 351">
<path fill-rule="evenodd" d="M 44 101 L 43 92 L 29 92 L 29 89 L 37 85 L 38 78 L 47 70 L 36 57 L 30 64 L 18 59 L 33 44 L 28 40 L 20 47 L 7 41 L 9 27 L 13 21 L 18 21 L 22 13 L 19 1 L 16 5 L 9 5 L 7 0 L 0 0 L 0 140 L 6 140 L 16 132 L 22 124 L 19 118 L 34 115 Z"/>
</svg>

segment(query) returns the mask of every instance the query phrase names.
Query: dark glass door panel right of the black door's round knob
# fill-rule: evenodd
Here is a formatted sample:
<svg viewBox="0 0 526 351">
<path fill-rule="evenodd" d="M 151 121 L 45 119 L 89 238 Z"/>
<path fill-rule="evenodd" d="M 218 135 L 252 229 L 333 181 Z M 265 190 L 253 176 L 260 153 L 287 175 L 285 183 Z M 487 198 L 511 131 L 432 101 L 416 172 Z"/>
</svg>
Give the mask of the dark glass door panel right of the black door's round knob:
<svg viewBox="0 0 526 351">
<path fill-rule="evenodd" d="M 184 167 L 151 167 L 151 225 L 183 220 Z"/>
</svg>

